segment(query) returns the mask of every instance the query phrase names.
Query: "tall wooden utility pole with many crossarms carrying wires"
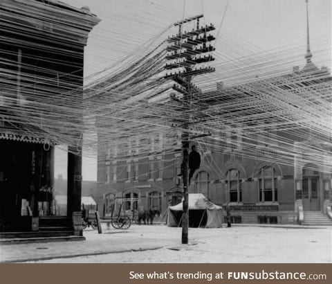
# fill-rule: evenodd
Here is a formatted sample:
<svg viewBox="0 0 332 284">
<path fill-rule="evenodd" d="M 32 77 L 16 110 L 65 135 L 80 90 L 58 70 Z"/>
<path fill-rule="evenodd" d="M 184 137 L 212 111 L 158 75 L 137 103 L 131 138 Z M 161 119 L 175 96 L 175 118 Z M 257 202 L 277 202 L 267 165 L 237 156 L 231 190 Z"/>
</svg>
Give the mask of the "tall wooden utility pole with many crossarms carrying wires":
<svg viewBox="0 0 332 284">
<path fill-rule="evenodd" d="M 181 173 L 183 175 L 183 215 L 182 215 L 182 243 L 188 243 L 188 225 L 189 225 L 189 206 L 188 206 L 188 162 L 189 162 L 189 144 L 190 144 L 190 106 L 194 98 L 198 98 L 201 90 L 192 84 L 192 78 L 203 73 L 214 72 L 215 69 L 210 66 L 197 68 L 196 64 L 210 62 L 214 60 L 212 55 L 206 55 L 214 51 L 214 47 L 209 42 L 215 39 L 210 35 L 215 30 L 212 24 L 199 26 L 199 19 L 203 15 L 197 15 L 178 21 L 174 26 L 178 26 L 178 34 L 167 39 L 166 59 L 169 63 L 165 65 L 165 69 L 170 70 L 165 78 L 174 80 L 173 89 L 183 94 L 183 114 L 176 121 L 178 127 L 181 127 L 182 136 L 182 166 Z M 196 28 L 191 31 L 183 31 L 183 26 L 192 21 L 196 21 Z"/>
</svg>

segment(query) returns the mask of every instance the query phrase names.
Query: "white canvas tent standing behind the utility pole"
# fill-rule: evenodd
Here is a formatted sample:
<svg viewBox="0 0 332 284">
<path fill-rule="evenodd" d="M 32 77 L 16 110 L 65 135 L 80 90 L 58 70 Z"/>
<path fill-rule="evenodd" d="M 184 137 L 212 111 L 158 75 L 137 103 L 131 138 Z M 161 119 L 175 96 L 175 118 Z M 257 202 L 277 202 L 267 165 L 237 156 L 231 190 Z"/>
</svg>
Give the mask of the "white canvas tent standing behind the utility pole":
<svg viewBox="0 0 332 284">
<path fill-rule="evenodd" d="M 210 202 L 202 193 L 190 193 L 188 205 L 190 227 L 221 227 L 225 215 L 223 208 Z M 168 227 L 181 226 L 182 213 L 183 202 L 169 206 L 167 214 Z"/>
</svg>

